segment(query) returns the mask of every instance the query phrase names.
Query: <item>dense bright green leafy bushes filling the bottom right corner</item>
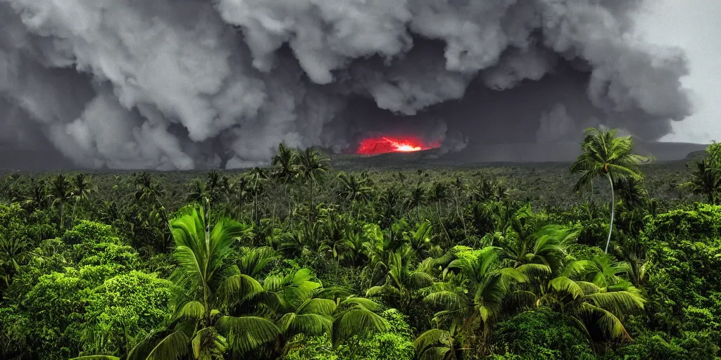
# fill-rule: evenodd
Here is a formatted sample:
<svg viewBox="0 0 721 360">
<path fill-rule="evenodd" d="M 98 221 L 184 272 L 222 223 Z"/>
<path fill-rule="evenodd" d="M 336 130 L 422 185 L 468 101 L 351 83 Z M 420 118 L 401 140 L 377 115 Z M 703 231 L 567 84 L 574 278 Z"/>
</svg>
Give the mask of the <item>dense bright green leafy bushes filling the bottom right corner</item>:
<svg viewBox="0 0 721 360">
<path fill-rule="evenodd" d="M 641 240 L 650 257 L 655 328 L 704 358 L 721 355 L 721 282 L 715 280 L 721 276 L 721 207 L 698 204 L 660 214 L 647 223 Z"/>
</svg>

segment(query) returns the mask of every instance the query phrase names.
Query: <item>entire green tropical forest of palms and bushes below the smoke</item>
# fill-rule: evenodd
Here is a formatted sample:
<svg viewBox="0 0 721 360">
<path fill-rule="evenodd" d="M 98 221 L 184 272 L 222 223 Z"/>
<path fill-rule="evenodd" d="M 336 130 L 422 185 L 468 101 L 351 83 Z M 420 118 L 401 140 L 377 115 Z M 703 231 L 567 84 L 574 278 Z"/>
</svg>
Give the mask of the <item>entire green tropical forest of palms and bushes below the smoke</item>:
<svg viewBox="0 0 721 360">
<path fill-rule="evenodd" d="M 721 145 L 4 171 L 1 360 L 721 359 Z"/>
</svg>

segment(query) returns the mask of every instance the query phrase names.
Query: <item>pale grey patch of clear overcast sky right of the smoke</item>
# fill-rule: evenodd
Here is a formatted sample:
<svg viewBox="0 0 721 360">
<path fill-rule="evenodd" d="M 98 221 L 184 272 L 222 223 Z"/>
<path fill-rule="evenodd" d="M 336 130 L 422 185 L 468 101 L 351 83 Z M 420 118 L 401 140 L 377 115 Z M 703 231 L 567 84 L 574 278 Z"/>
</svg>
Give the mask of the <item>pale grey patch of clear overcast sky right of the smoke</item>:
<svg viewBox="0 0 721 360">
<path fill-rule="evenodd" d="M 721 141 L 721 0 L 648 0 L 640 30 L 651 42 L 686 50 L 696 114 L 678 123 L 666 140 Z"/>
</svg>

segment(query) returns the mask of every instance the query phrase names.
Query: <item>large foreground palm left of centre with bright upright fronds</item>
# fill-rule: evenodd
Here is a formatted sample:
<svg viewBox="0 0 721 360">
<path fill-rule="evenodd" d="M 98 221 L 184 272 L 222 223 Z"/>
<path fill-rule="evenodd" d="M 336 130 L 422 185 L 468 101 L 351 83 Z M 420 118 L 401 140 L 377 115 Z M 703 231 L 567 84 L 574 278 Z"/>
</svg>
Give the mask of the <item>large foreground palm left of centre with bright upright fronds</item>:
<svg viewBox="0 0 721 360">
<path fill-rule="evenodd" d="M 179 263 L 172 279 L 185 292 L 176 299 L 178 325 L 154 346 L 148 359 L 177 359 L 185 354 L 211 359 L 227 348 L 242 353 L 277 338 L 280 331 L 270 320 L 228 314 L 235 305 L 263 292 L 252 276 L 233 274 L 229 266 L 231 245 L 248 228 L 228 219 L 211 228 L 202 207 L 172 220 L 170 227 Z"/>
</svg>

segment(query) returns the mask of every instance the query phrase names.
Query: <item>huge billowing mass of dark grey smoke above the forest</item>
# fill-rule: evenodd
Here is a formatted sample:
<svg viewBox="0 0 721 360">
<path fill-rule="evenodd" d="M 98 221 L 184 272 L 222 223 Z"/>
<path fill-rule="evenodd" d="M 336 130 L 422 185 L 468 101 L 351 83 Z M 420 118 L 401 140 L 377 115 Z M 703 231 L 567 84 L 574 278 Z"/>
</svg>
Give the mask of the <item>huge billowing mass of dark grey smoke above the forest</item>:
<svg viewBox="0 0 721 360">
<path fill-rule="evenodd" d="M 655 140 L 691 114 L 642 0 L 0 0 L 0 143 L 92 168 L 267 163 L 353 150 Z M 51 145 L 49 145 L 51 144 Z"/>
</svg>

